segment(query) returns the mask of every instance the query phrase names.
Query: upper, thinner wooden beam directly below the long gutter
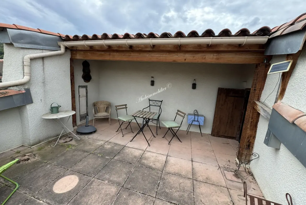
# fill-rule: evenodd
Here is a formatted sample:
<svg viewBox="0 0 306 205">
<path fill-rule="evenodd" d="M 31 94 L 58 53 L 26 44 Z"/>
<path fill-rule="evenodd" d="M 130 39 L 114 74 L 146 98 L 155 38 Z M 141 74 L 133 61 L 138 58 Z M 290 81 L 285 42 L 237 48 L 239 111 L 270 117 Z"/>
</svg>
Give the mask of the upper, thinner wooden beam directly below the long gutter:
<svg viewBox="0 0 306 205">
<path fill-rule="evenodd" d="M 136 45 L 136 46 L 72 46 L 71 50 L 244 50 L 244 51 L 256 51 L 265 50 L 264 44 L 247 44 L 244 46 L 222 44 L 222 45 Z"/>
</svg>

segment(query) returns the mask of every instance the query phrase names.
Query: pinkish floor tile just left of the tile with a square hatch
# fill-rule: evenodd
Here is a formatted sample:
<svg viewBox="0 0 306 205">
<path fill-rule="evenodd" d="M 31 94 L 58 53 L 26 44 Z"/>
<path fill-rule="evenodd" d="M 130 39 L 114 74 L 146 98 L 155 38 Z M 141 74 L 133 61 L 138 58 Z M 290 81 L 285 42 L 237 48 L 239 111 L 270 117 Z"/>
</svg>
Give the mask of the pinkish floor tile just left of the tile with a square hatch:
<svg viewBox="0 0 306 205">
<path fill-rule="evenodd" d="M 192 162 L 193 178 L 198 181 L 226 187 L 220 167 Z"/>
</svg>

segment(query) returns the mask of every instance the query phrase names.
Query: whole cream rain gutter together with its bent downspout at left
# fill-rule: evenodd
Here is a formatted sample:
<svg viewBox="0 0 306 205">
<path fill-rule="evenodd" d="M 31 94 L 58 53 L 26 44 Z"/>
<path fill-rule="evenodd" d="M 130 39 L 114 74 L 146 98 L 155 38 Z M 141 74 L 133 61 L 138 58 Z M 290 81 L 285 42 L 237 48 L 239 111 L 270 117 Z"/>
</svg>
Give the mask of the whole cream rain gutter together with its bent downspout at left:
<svg viewBox="0 0 306 205">
<path fill-rule="evenodd" d="M 73 41 L 58 42 L 61 46 L 60 51 L 48 53 L 29 54 L 24 57 L 24 78 L 10 82 L 0 83 L 0 88 L 18 86 L 29 82 L 31 77 L 31 59 L 43 58 L 49 56 L 62 55 L 65 53 L 65 47 L 71 46 L 133 46 L 133 45 L 192 45 L 192 44 L 265 44 L 269 37 L 211 37 L 211 38 L 142 38 L 142 39 L 115 39 L 115 40 L 97 40 L 97 41 Z"/>
</svg>

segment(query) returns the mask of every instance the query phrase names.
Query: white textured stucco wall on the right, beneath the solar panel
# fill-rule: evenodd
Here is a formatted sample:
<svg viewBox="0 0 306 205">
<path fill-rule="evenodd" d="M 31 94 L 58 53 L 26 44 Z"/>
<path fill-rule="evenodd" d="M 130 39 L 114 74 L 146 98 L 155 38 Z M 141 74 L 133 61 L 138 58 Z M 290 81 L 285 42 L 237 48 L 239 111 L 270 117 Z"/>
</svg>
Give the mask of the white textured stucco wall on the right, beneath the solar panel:
<svg viewBox="0 0 306 205">
<path fill-rule="evenodd" d="M 285 56 L 273 56 L 271 63 L 285 60 Z M 290 77 L 283 103 L 306 112 L 306 49 L 300 54 L 297 64 Z M 267 81 L 262 93 L 264 101 L 274 89 L 279 74 L 267 76 Z M 272 108 L 278 85 L 274 92 L 264 102 Z M 267 147 L 263 144 L 268 120 L 260 116 L 254 152 L 259 154 L 259 159 L 252 161 L 251 169 L 266 199 L 280 204 L 287 204 L 285 193 L 290 193 L 293 204 L 306 204 L 306 168 L 282 144 L 280 149 Z"/>
</svg>

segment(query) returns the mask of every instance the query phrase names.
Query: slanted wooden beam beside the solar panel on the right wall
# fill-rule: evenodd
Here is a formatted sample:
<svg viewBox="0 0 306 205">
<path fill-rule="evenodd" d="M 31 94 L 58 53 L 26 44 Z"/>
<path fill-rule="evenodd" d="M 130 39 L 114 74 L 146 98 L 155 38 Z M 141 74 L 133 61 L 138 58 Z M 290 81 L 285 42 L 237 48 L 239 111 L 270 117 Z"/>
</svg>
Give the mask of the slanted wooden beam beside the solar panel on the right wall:
<svg viewBox="0 0 306 205">
<path fill-rule="evenodd" d="M 291 74 L 292 74 L 292 72 L 295 68 L 295 65 L 297 64 L 297 60 L 300 56 L 300 53 L 301 53 L 301 50 L 299 50 L 297 53 L 287 54 L 286 60 L 293 60 L 293 62 L 291 64 L 291 67 L 290 67 L 289 71 L 282 73 L 282 80 L 281 80 L 281 83 L 279 85 L 278 95 L 277 95 L 275 103 L 280 102 L 283 99 L 283 97 L 285 96 L 287 85 L 289 83 Z"/>
</svg>

